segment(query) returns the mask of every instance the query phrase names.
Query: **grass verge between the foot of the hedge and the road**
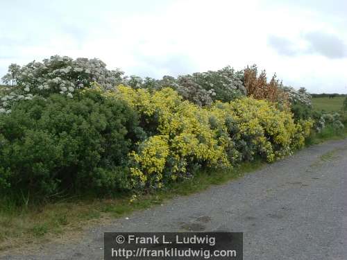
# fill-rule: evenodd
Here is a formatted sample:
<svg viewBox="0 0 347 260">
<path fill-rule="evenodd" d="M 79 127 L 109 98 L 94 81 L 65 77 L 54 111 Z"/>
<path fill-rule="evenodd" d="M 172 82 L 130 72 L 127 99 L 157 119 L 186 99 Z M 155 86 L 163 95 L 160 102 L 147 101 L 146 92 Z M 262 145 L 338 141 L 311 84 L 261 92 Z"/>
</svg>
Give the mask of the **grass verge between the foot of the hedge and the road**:
<svg viewBox="0 0 347 260">
<path fill-rule="evenodd" d="M 169 185 L 164 190 L 150 194 L 132 194 L 121 198 L 103 200 L 71 198 L 64 202 L 46 205 L 15 207 L 10 201 L 0 200 L 0 251 L 14 250 L 19 245 L 28 248 L 46 241 L 70 241 L 78 237 L 84 227 L 110 223 L 114 218 L 130 214 L 135 210 L 160 205 L 176 196 L 187 196 L 203 191 L 211 185 L 218 185 L 255 171 L 264 163 L 244 163 L 229 171 L 201 171 L 191 179 Z M 64 236 L 62 236 L 64 234 Z"/>
</svg>

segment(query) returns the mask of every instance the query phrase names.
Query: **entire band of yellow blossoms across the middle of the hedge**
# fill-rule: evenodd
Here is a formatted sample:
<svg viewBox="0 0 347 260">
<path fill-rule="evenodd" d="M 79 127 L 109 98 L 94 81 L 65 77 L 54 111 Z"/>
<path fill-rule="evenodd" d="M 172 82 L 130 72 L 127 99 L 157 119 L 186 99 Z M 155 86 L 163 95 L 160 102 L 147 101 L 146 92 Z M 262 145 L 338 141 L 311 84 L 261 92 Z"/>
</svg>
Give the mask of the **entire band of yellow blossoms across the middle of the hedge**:
<svg viewBox="0 0 347 260">
<path fill-rule="evenodd" d="M 185 173 L 189 164 L 230 167 L 255 156 L 272 162 L 303 146 L 312 127 L 311 121 L 296 124 L 289 111 L 253 98 L 198 107 L 171 88 L 150 92 L 124 85 L 105 95 L 127 101 L 144 130 L 151 130 L 130 153 L 131 173 L 135 182 L 158 187 L 164 177 L 175 180 Z"/>
</svg>

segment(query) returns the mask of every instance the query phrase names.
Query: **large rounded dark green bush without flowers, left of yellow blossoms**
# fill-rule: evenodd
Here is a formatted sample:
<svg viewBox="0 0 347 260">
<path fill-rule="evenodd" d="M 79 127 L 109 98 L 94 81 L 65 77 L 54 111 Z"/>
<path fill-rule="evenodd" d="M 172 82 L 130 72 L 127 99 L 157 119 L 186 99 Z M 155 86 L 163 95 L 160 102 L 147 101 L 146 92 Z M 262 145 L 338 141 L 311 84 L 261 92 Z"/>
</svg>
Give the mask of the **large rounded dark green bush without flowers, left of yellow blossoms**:
<svg viewBox="0 0 347 260">
<path fill-rule="evenodd" d="M 0 115 L 0 191 L 46 198 L 127 189 L 137 132 L 137 114 L 97 92 L 19 101 Z"/>
</svg>

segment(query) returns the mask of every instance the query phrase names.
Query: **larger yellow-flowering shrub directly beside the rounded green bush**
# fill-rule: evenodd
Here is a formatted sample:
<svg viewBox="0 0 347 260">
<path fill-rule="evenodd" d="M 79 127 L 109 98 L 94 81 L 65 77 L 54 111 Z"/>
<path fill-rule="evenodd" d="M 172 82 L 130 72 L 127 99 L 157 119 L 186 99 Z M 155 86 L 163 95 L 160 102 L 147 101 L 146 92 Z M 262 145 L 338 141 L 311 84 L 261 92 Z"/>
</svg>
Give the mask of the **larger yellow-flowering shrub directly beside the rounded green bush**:
<svg viewBox="0 0 347 260">
<path fill-rule="evenodd" d="M 210 112 L 183 101 L 173 89 L 151 93 L 120 85 L 106 95 L 128 101 L 142 117 L 144 128 L 151 132 L 152 136 L 130 153 L 135 162 L 132 175 L 142 184 L 161 186 L 164 172 L 175 180 L 188 171 L 189 164 L 230 166 L 226 142 L 220 141 L 210 128 Z"/>
</svg>

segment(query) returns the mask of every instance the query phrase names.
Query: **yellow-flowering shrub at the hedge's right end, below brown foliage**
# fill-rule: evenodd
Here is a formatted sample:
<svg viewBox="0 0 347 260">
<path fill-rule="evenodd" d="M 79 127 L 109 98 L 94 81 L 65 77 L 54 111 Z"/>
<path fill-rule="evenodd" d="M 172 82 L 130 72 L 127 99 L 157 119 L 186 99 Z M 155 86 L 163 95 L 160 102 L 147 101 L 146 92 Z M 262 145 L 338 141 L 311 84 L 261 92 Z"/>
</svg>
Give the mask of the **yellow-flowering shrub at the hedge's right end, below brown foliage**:
<svg viewBox="0 0 347 260">
<path fill-rule="evenodd" d="M 280 111 L 274 103 L 253 98 L 215 103 L 212 113 L 226 119 L 228 134 L 242 155 L 241 160 L 257 155 L 273 162 L 290 154 L 293 148 L 302 147 L 312 127 L 311 121 L 305 121 L 303 127 L 294 123 L 288 110 Z"/>
</svg>

